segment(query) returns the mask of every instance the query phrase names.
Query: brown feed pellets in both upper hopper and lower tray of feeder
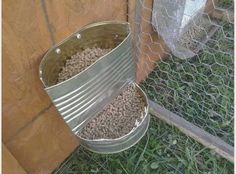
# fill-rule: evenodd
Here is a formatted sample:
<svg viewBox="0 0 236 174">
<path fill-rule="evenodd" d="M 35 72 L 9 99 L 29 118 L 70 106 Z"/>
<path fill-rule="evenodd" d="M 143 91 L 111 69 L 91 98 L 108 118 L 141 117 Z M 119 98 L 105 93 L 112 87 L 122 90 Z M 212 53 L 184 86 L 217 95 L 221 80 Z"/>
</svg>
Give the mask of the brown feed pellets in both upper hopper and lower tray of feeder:
<svg viewBox="0 0 236 174">
<path fill-rule="evenodd" d="M 58 75 L 58 83 L 78 74 L 111 49 L 87 48 L 66 60 Z M 79 133 L 87 139 L 114 139 L 126 135 L 143 119 L 145 102 L 131 84 L 98 113 Z"/>
</svg>

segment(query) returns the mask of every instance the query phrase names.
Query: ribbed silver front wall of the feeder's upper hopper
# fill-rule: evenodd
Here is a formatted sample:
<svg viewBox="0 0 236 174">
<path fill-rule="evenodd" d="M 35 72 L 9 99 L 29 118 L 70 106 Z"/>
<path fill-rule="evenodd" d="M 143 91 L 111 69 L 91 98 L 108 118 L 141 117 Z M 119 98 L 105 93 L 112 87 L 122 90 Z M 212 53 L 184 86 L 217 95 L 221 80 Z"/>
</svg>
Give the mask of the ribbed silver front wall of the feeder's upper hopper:
<svg viewBox="0 0 236 174">
<path fill-rule="evenodd" d="M 78 131 L 90 117 L 101 110 L 120 89 L 135 78 L 130 36 L 113 52 L 81 73 L 71 86 L 63 89 L 66 94 L 55 97 L 53 102 L 72 131 Z M 51 89 L 47 92 L 54 93 Z M 88 117 L 90 116 L 90 117 Z"/>
</svg>

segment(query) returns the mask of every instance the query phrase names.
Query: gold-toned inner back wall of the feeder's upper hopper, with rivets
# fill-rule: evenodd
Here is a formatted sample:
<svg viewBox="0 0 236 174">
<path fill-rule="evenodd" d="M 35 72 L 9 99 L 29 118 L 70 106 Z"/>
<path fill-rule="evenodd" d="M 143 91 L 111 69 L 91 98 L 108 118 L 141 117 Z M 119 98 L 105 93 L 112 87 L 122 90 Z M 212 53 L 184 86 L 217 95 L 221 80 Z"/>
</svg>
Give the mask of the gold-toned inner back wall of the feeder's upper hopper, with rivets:
<svg viewBox="0 0 236 174">
<path fill-rule="evenodd" d="M 128 23 L 101 22 L 83 27 L 55 45 L 40 64 L 40 79 L 45 87 L 57 84 L 58 74 L 66 59 L 86 48 L 115 48 L 129 35 Z M 62 82 L 63 83 L 63 82 Z"/>
</svg>

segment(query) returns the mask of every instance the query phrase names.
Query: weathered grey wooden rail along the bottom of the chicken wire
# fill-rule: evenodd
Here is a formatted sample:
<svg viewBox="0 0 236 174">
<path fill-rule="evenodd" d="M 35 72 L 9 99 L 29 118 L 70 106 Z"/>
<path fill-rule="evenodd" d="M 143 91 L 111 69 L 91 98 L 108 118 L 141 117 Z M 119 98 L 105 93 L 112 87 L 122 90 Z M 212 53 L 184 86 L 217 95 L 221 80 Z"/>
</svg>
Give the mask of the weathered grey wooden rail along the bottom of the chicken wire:
<svg viewBox="0 0 236 174">
<path fill-rule="evenodd" d="M 161 120 L 164 120 L 170 125 L 177 127 L 187 136 L 195 139 L 205 147 L 214 150 L 220 156 L 234 162 L 234 147 L 225 143 L 220 138 L 209 134 L 203 129 L 193 125 L 178 115 L 168 111 L 160 105 L 149 100 L 150 112 Z"/>
</svg>

